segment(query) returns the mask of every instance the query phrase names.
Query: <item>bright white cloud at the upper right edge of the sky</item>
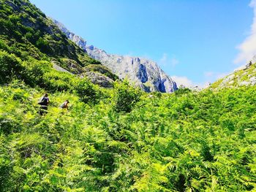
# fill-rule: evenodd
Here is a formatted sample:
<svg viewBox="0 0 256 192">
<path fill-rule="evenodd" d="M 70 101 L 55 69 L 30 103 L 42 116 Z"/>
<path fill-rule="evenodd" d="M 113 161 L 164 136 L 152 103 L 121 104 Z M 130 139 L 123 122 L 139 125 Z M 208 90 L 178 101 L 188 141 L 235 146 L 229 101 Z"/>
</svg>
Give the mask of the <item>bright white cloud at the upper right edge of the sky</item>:
<svg viewBox="0 0 256 192">
<path fill-rule="evenodd" d="M 249 6 L 254 10 L 253 23 L 249 37 L 246 37 L 244 42 L 242 42 L 241 45 L 238 45 L 237 47 L 238 50 L 240 50 L 240 53 L 234 60 L 236 64 L 248 62 L 256 54 L 256 0 L 252 0 Z"/>
</svg>

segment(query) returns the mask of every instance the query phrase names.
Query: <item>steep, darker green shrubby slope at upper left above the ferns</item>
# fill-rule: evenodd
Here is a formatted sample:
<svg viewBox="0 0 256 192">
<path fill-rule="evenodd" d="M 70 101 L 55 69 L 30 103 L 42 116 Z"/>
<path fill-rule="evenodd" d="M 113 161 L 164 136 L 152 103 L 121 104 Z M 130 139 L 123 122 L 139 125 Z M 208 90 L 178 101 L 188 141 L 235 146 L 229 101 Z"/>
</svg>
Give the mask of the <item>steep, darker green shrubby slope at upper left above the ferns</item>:
<svg viewBox="0 0 256 192">
<path fill-rule="evenodd" d="M 101 71 L 97 70 L 95 75 L 105 78 L 107 84 L 116 80 L 114 74 L 67 39 L 59 27 L 29 1 L 1 0 L 0 8 L 0 47 L 8 53 L 23 61 L 29 58 L 47 60 L 57 66 L 56 69 L 60 66 L 83 76 L 95 74 L 86 72 L 90 71 L 90 65 L 97 65 L 105 73 L 100 74 Z"/>
</svg>

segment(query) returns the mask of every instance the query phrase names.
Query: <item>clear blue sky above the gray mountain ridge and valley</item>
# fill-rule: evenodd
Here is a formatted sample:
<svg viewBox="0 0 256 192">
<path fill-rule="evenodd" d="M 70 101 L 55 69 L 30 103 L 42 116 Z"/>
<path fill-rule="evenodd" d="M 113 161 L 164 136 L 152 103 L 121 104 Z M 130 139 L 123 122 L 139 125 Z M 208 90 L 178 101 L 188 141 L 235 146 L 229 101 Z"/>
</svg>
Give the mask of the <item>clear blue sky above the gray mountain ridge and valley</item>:
<svg viewBox="0 0 256 192">
<path fill-rule="evenodd" d="M 151 58 L 183 84 L 214 82 L 248 59 L 248 54 L 241 54 L 253 31 L 249 0 L 31 2 L 88 45 Z"/>
</svg>

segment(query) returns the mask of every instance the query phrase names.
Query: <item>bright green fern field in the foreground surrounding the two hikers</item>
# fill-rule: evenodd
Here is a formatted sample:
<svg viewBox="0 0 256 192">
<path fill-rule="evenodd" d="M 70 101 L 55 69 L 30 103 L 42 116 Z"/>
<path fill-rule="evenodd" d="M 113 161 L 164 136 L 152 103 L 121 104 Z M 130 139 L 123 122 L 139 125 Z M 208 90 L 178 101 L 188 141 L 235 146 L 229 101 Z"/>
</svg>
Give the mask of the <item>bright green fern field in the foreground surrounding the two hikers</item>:
<svg viewBox="0 0 256 192">
<path fill-rule="evenodd" d="M 131 112 L 124 89 L 109 92 L 97 104 L 51 93 L 41 117 L 42 90 L 2 86 L 1 191 L 253 191 L 255 87 L 143 94 Z"/>
</svg>

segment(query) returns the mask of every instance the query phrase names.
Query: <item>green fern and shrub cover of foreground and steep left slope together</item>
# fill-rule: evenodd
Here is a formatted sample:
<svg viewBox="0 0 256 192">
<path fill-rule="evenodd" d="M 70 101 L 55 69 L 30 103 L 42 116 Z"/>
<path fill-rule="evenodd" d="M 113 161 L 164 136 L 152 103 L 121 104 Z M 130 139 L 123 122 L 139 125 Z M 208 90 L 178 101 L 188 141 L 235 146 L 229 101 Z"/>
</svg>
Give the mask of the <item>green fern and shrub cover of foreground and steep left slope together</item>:
<svg viewBox="0 0 256 192">
<path fill-rule="evenodd" d="M 102 88 L 53 69 L 70 72 L 72 60 L 115 80 L 29 1 L 0 7 L 0 191 L 256 191 L 255 86 Z M 23 15 L 42 18 L 38 37 L 36 27 L 26 35 Z"/>
</svg>

